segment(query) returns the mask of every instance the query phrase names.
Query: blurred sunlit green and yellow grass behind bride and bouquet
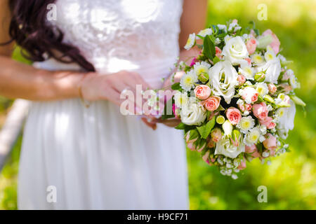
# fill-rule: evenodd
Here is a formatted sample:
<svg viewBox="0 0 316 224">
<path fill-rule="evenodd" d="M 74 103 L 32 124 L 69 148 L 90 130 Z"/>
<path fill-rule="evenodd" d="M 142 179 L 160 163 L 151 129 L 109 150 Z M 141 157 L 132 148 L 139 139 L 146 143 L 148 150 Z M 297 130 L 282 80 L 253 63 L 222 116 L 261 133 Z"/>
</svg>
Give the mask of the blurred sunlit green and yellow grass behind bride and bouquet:
<svg viewBox="0 0 316 224">
<path fill-rule="evenodd" d="M 258 5 L 265 3 L 268 20 L 259 21 Z M 290 65 L 301 89 L 306 116 L 297 107 L 295 128 L 289 134 L 291 153 L 272 159 L 272 165 L 256 160 L 247 163 L 239 179 L 219 174 L 196 152 L 187 151 L 189 164 L 190 209 L 316 209 L 316 1 L 209 1 L 207 25 L 225 24 L 236 18 L 246 26 L 256 22 L 261 31 L 272 29 L 283 48 L 282 55 L 294 60 Z M 18 53 L 15 59 L 20 60 Z M 0 125 L 11 101 L 0 97 Z M 16 188 L 21 138 L 0 176 L 0 209 L 16 209 Z M 258 186 L 268 188 L 268 202 L 259 203 Z"/>
</svg>

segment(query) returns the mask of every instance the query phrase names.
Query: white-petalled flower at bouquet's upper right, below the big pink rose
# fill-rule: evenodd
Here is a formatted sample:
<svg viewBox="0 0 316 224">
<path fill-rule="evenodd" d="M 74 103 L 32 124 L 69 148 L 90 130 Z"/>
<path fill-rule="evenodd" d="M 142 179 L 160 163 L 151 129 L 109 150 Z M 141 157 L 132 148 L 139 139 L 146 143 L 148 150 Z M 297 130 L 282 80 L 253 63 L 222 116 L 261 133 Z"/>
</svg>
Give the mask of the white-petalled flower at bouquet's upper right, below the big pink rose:
<svg viewBox="0 0 316 224">
<path fill-rule="evenodd" d="M 258 66 L 258 71 L 265 71 L 265 82 L 277 84 L 279 73 L 281 73 L 281 64 L 279 58 L 270 59 L 262 66 Z"/>
</svg>

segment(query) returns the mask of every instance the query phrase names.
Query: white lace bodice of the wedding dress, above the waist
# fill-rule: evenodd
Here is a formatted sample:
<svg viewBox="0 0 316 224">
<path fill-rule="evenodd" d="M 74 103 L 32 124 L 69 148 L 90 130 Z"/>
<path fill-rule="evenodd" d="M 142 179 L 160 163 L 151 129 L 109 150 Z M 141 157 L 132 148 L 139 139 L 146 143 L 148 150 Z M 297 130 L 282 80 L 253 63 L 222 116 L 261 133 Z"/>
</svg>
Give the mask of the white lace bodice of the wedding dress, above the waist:
<svg viewBox="0 0 316 224">
<path fill-rule="evenodd" d="M 97 71 L 171 67 L 178 57 L 182 0 L 58 0 L 64 41 Z"/>
</svg>

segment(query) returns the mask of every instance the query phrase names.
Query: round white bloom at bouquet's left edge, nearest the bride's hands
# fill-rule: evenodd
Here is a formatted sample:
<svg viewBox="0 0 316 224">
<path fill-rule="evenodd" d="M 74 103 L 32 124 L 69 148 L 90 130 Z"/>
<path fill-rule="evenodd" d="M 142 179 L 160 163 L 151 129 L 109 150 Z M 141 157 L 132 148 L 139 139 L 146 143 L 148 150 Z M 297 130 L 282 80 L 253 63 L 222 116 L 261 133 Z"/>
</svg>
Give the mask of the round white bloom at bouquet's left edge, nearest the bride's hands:
<svg viewBox="0 0 316 224">
<path fill-rule="evenodd" d="M 206 111 L 199 104 L 189 103 L 180 111 L 180 117 L 185 125 L 201 125 L 206 119 Z"/>
</svg>

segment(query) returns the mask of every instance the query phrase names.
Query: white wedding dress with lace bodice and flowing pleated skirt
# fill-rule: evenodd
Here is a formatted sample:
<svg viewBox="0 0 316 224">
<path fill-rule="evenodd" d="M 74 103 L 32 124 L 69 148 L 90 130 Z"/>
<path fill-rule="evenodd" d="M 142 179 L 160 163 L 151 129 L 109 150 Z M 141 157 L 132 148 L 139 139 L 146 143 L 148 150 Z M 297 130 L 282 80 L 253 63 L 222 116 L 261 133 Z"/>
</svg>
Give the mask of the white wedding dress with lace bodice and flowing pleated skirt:
<svg viewBox="0 0 316 224">
<path fill-rule="evenodd" d="M 182 0 L 58 0 L 51 21 L 97 71 L 136 71 L 152 87 L 178 57 Z M 41 69 L 74 70 L 53 59 Z M 54 200 L 56 199 L 56 202 Z M 183 133 L 110 102 L 32 102 L 18 179 L 19 209 L 187 209 Z"/>
</svg>

